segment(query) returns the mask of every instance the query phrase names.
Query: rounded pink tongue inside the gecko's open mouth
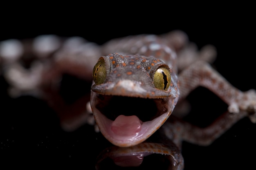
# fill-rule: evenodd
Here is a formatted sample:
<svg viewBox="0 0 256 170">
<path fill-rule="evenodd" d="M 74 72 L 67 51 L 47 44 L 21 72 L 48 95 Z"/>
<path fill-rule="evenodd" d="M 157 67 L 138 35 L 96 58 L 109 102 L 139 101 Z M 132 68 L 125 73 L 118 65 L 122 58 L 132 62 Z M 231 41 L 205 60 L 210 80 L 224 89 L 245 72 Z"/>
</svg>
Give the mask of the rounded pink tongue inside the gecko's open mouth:
<svg viewBox="0 0 256 170">
<path fill-rule="evenodd" d="M 112 122 L 111 130 L 121 136 L 136 135 L 141 130 L 142 121 L 135 115 L 125 116 L 119 115 Z"/>
</svg>

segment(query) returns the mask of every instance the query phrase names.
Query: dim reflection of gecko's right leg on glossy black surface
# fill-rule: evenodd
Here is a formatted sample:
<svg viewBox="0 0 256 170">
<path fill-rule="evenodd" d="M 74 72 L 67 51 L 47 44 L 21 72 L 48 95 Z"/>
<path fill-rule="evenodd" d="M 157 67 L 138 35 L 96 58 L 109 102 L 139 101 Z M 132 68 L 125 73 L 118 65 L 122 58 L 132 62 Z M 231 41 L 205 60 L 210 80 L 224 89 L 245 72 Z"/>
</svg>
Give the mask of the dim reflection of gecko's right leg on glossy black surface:
<svg viewBox="0 0 256 170">
<path fill-rule="evenodd" d="M 227 111 L 204 128 L 173 117 L 171 123 L 164 124 L 163 128 L 166 136 L 172 139 L 177 146 L 181 147 L 181 141 L 208 146 L 246 116 L 247 112 L 244 110 L 241 110 L 239 114 L 230 114 Z"/>
</svg>

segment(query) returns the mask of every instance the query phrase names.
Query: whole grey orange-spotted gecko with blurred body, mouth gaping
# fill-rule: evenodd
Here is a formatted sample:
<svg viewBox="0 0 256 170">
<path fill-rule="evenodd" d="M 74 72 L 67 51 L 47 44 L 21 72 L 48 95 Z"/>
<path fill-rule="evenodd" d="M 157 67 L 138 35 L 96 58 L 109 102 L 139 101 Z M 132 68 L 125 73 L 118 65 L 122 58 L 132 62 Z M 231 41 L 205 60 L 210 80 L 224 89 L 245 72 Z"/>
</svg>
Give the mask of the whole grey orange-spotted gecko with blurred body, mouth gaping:
<svg viewBox="0 0 256 170">
<path fill-rule="evenodd" d="M 37 58 L 30 63 L 30 69 L 25 69 L 20 60 L 29 53 Z M 136 146 L 159 128 L 179 147 L 183 140 L 208 145 L 245 116 L 255 123 L 255 90 L 242 92 L 227 82 L 208 64 L 215 55 L 213 46 L 205 46 L 200 52 L 191 49 L 182 31 L 132 35 L 101 46 L 80 37 L 55 35 L 0 43 L 1 72 L 11 86 L 11 96 L 44 98 L 60 117 L 65 117 L 64 128 L 71 130 L 89 119 L 93 121 L 88 116 L 92 111 L 103 136 L 120 147 Z M 52 87 L 58 91 L 63 73 L 93 79 L 90 99 L 86 96 L 70 109 L 61 108 L 65 104 L 56 93 L 52 96 Z M 169 118 L 175 105 L 198 86 L 215 93 L 229 110 L 203 129 L 174 116 Z M 58 104 L 52 101 L 55 99 Z M 85 104 L 87 100 L 91 108 Z M 79 114 L 67 116 L 74 108 Z"/>
</svg>

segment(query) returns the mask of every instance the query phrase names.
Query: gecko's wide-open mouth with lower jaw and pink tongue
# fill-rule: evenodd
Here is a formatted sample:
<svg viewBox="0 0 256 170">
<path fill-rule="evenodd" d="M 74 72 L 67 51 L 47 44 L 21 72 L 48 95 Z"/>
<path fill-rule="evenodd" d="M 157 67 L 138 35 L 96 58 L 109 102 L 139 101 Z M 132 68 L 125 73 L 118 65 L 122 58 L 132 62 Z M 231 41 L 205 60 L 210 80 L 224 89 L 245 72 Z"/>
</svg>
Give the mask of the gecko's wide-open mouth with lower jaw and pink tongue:
<svg viewBox="0 0 256 170">
<path fill-rule="evenodd" d="M 171 114 L 173 98 L 148 99 L 92 93 L 101 133 L 112 144 L 134 146 L 152 135 Z"/>
</svg>

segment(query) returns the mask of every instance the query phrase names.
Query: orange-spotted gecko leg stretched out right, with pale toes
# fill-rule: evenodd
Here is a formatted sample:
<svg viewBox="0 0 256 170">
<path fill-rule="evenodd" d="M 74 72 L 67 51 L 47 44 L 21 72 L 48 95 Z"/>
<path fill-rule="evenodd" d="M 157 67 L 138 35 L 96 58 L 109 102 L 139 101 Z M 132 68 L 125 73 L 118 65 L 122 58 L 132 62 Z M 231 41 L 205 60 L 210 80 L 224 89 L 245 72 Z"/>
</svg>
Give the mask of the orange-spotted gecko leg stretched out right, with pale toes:
<svg viewBox="0 0 256 170">
<path fill-rule="evenodd" d="M 180 73 L 179 80 L 180 99 L 185 98 L 196 87 L 203 86 L 226 102 L 229 105 L 229 112 L 238 113 L 241 109 L 246 110 L 250 115 L 255 115 L 256 91 L 254 89 L 240 91 L 206 62 L 192 64 Z M 250 119 L 256 122 L 255 116 L 250 116 Z"/>
</svg>

